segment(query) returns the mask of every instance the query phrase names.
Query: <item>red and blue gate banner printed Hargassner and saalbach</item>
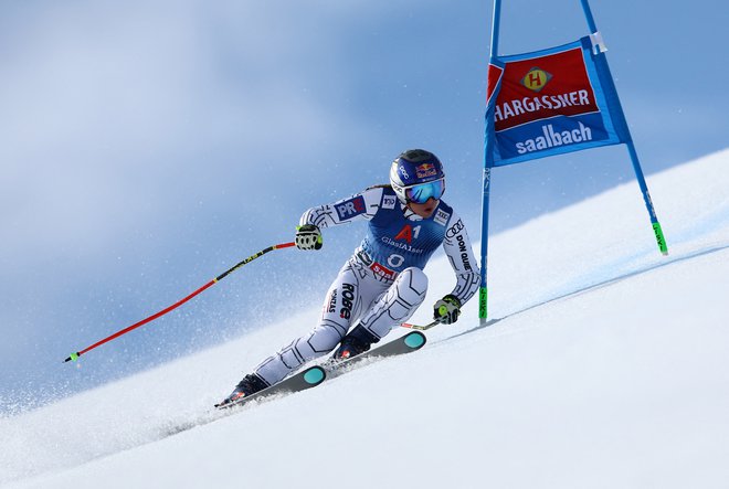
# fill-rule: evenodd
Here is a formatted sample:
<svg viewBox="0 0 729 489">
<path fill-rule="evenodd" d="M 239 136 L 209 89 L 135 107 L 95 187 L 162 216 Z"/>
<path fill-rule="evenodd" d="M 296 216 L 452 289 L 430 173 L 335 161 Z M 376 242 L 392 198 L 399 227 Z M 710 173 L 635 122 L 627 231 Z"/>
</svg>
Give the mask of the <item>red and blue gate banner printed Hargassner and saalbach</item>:
<svg viewBox="0 0 729 489">
<path fill-rule="evenodd" d="M 627 142 L 604 53 L 585 36 L 488 65 L 486 166 Z"/>
</svg>

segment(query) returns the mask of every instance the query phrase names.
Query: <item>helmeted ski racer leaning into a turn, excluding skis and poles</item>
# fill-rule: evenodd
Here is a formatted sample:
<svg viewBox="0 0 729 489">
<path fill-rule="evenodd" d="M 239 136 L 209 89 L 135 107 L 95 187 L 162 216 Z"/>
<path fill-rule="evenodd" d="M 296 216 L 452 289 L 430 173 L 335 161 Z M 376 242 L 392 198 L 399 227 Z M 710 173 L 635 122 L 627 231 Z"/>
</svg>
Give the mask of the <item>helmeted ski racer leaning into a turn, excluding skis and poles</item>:
<svg viewBox="0 0 729 489">
<path fill-rule="evenodd" d="M 455 322 L 478 288 L 479 273 L 463 221 L 441 200 L 444 191 L 441 161 L 412 149 L 392 162 L 389 185 L 306 211 L 296 231 L 299 249 L 320 249 L 321 228 L 357 220 L 369 221 L 367 235 L 329 287 L 314 330 L 264 360 L 220 405 L 276 384 L 337 346 L 335 359 L 368 351 L 423 302 L 423 268 L 441 244 L 456 285 L 435 302 L 433 316 L 445 325 Z"/>
</svg>

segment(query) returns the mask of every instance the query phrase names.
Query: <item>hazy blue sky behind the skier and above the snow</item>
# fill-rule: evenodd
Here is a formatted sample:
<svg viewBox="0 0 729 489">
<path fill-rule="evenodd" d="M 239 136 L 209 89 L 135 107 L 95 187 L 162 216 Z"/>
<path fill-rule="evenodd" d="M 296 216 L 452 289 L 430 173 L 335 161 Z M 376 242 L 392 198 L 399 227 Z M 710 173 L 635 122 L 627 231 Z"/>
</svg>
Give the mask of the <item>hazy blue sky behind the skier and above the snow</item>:
<svg viewBox="0 0 729 489">
<path fill-rule="evenodd" d="M 361 226 L 328 232 L 320 254 L 261 258 L 80 366 L 61 363 L 289 241 L 307 206 L 385 181 L 403 149 L 441 157 L 445 199 L 477 238 L 492 9 L 0 3 L 0 408 L 96 385 L 318 302 Z M 592 9 L 648 185 L 651 173 L 725 148 L 725 3 Z M 505 0 L 500 54 L 587 32 L 578 0 Z M 624 147 L 497 169 L 492 231 L 632 178 Z"/>
</svg>

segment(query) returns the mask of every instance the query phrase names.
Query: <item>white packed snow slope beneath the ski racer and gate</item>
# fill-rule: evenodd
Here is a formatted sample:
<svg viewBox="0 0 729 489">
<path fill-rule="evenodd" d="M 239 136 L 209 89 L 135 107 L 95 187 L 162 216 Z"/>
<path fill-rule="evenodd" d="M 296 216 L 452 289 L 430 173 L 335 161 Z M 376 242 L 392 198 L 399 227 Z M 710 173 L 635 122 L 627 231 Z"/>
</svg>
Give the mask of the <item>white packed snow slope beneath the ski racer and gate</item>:
<svg viewBox="0 0 729 489">
<path fill-rule="evenodd" d="M 648 184 L 669 256 L 657 251 L 637 184 L 626 183 L 492 238 L 488 327 L 474 300 L 416 353 L 215 413 L 243 373 L 311 327 L 313 305 L 0 419 L 0 482 L 726 488 L 729 151 Z M 430 304 L 453 279 L 444 259 L 426 272 Z M 413 319 L 427 321 L 429 309 Z"/>
</svg>

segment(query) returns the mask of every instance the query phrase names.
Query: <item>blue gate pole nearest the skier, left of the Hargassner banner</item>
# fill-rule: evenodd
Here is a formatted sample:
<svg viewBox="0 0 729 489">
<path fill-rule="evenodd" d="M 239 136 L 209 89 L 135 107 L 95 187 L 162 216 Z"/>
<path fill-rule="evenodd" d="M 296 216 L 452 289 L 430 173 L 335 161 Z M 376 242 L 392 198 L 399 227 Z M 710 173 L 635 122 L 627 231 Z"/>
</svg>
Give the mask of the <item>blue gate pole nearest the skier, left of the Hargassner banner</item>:
<svg viewBox="0 0 729 489">
<path fill-rule="evenodd" d="M 498 33 L 501 18 L 501 0 L 494 0 L 494 19 L 492 21 L 490 59 L 498 55 Z M 487 111 L 488 117 L 488 111 Z M 482 196 L 480 220 L 480 287 L 478 289 L 478 318 L 480 326 L 486 326 L 488 316 L 488 285 L 486 280 L 488 269 L 488 212 L 492 185 L 493 146 L 489 143 L 489 125 L 486 121 L 486 141 L 484 150 L 484 187 Z"/>
</svg>

